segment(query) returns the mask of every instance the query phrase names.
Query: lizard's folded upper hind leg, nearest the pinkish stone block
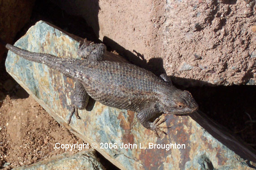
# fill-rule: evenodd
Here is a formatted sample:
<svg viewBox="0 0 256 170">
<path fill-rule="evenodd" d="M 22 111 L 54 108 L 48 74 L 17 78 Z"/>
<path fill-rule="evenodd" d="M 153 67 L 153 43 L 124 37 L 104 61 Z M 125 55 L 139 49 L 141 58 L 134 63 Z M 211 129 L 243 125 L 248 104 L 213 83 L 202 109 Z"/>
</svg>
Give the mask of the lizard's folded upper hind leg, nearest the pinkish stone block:
<svg viewBox="0 0 256 170">
<path fill-rule="evenodd" d="M 78 56 L 89 61 L 102 61 L 105 52 L 106 46 L 104 44 L 95 44 L 85 39 L 78 49 Z"/>
</svg>

